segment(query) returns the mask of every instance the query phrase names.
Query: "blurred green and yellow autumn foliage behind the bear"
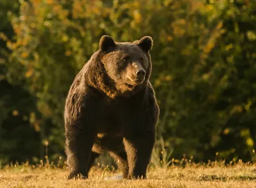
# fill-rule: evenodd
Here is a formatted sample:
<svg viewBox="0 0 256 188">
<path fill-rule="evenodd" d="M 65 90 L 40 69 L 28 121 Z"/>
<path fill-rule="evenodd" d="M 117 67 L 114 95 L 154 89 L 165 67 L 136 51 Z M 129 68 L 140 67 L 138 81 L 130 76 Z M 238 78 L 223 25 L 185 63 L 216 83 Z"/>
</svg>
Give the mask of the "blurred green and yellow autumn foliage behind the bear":
<svg viewBox="0 0 256 188">
<path fill-rule="evenodd" d="M 0 164 L 65 159 L 65 98 L 103 34 L 154 40 L 155 155 L 255 161 L 255 15 L 254 0 L 1 0 Z"/>
</svg>

